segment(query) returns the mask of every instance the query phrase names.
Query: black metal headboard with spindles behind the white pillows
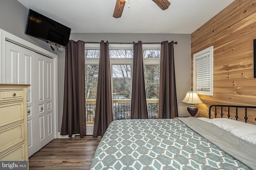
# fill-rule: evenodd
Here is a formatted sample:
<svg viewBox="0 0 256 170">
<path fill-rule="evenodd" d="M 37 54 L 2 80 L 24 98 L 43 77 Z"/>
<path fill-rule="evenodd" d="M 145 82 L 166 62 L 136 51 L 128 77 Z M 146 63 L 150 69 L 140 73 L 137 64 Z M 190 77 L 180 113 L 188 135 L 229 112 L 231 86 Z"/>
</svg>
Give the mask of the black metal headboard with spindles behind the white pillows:
<svg viewBox="0 0 256 170">
<path fill-rule="evenodd" d="M 236 108 L 236 120 L 238 119 L 238 108 L 244 108 L 245 109 L 245 116 L 244 116 L 244 120 L 245 120 L 245 122 L 247 121 L 247 119 L 248 119 L 248 117 L 247 117 L 247 109 L 256 109 L 256 106 L 231 106 L 231 105 L 211 105 L 210 107 L 209 107 L 209 118 L 211 118 L 211 109 L 212 109 L 212 107 L 215 107 L 215 113 L 214 113 L 214 115 L 215 115 L 215 118 L 216 118 L 216 115 L 217 115 L 217 113 L 216 113 L 216 108 L 217 107 L 221 107 L 221 113 L 220 113 L 220 116 L 221 117 L 223 117 L 223 107 L 228 107 L 228 118 L 230 117 L 230 107 L 234 107 L 234 108 Z M 255 121 L 256 121 L 256 118 L 255 118 Z"/>
</svg>

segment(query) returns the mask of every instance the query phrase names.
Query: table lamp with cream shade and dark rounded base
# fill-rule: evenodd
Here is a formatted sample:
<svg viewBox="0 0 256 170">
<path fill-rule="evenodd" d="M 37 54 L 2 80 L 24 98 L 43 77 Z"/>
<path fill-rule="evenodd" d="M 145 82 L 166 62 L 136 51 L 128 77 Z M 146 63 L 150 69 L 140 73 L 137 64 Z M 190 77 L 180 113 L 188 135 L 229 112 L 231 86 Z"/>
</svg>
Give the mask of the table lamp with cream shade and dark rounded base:
<svg viewBox="0 0 256 170">
<path fill-rule="evenodd" d="M 188 106 L 188 112 L 190 113 L 191 116 L 195 116 L 197 111 L 198 111 L 198 107 L 196 107 L 194 104 L 199 104 L 199 103 L 203 103 L 200 98 L 198 97 L 197 92 L 193 92 L 191 90 L 191 92 L 187 92 L 185 98 L 182 100 L 182 102 L 184 103 L 188 103 L 191 104 L 190 106 Z"/>
</svg>

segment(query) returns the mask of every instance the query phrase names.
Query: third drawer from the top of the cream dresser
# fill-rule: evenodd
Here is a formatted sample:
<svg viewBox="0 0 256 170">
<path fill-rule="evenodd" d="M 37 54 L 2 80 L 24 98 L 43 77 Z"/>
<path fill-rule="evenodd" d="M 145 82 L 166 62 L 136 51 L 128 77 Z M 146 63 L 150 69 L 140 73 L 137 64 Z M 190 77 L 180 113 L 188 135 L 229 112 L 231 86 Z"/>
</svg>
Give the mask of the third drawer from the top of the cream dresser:
<svg viewBox="0 0 256 170">
<path fill-rule="evenodd" d="M 24 141 L 24 121 L 0 128 L 0 152 Z"/>
</svg>

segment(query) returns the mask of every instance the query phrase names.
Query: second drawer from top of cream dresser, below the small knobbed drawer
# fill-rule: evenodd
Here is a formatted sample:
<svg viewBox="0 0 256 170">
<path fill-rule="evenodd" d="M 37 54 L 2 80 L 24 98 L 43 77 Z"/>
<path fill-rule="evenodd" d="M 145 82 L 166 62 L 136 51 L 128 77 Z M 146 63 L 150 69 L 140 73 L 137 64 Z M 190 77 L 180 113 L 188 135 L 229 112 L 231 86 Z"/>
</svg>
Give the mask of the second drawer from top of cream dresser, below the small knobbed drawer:
<svg viewBox="0 0 256 170">
<path fill-rule="evenodd" d="M 0 127 L 24 119 L 24 103 L 9 102 L 0 105 Z"/>
</svg>

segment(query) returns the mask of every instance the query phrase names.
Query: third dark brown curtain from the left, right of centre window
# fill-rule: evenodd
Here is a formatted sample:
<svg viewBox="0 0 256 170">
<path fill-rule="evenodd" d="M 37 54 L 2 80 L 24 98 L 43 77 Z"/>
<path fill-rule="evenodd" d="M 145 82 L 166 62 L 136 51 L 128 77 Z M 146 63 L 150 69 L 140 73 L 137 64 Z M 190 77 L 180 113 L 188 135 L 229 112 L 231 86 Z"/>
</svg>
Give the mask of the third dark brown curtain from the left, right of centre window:
<svg viewBox="0 0 256 170">
<path fill-rule="evenodd" d="M 148 119 L 142 42 L 133 45 L 131 119 Z"/>
</svg>

